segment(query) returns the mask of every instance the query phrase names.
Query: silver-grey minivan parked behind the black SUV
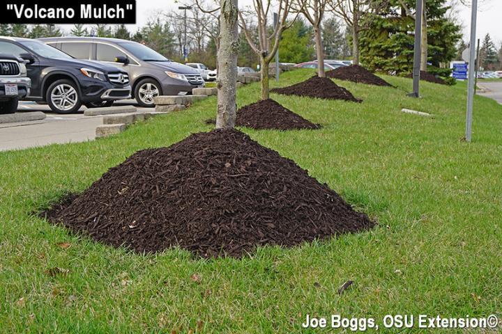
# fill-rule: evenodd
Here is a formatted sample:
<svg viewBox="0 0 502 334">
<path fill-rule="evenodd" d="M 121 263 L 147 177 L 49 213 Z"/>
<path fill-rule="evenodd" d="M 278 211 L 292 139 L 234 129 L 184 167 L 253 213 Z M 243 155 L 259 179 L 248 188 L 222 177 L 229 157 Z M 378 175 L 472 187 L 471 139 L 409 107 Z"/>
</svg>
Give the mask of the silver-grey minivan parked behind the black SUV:
<svg viewBox="0 0 502 334">
<path fill-rule="evenodd" d="M 187 95 L 204 87 L 190 66 L 170 61 L 157 51 L 130 40 L 94 37 L 40 38 L 47 45 L 79 59 L 113 63 L 129 74 L 132 96 L 141 106 L 155 106 L 158 95 Z"/>
</svg>

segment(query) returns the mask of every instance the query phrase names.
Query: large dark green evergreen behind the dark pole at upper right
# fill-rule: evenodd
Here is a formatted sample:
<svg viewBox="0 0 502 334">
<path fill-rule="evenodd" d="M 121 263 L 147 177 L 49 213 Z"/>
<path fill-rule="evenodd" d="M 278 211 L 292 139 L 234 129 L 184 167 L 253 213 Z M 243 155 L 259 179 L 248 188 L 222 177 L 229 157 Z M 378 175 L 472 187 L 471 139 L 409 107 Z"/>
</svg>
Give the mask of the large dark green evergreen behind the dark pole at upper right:
<svg viewBox="0 0 502 334">
<path fill-rule="evenodd" d="M 404 0 L 404 3 L 414 8 L 415 0 Z M 445 77 L 449 75 L 448 65 L 457 54 L 461 37 L 460 26 L 447 17 L 446 3 L 446 0 L 426 0 L 427 62 L 432 63 L 427 70 Z M 415 20 L 407 15 L 401 1 L 389 0 L 380 13 L 363 19 L 369 29 L 360 35 L 362 63 L 371 70 L 411 73 Z"/>
</svg>

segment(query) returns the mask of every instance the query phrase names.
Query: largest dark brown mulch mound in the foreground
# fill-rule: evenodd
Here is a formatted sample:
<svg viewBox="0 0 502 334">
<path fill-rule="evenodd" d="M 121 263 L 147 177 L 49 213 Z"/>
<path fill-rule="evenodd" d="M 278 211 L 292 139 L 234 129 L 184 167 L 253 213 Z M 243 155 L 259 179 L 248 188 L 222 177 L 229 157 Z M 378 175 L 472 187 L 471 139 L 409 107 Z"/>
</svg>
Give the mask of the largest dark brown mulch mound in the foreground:
<svg viewBox="0 0 502 334">
<path fill-rule="evenodd" d="M 142 150 L 89 189 L 42 214 L 79 234 L 139 253 L 179 246 L 241 257 L 374 226 L 326 184 L 235 129 Z"/>
</svg>

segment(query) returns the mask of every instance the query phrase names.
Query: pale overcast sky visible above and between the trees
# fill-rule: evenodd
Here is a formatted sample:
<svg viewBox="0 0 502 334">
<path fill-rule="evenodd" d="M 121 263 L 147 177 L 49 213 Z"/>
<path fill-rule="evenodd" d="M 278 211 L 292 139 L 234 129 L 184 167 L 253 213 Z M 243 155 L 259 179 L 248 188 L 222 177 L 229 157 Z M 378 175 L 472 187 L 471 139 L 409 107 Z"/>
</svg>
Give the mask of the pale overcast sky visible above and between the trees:
<svg viewBox="0 0 502 334">
<path fill-rule="evenodd" d="M 162 10 L 178 10 L 179 3 L 189 1 L 174 0 L 148 0 L 137 1 L 137 24 L 130 25 L 129 29 L 132 31 L 137 30 L 139 26 L 148 22 L 149 18 L 153 17 L 155 13 Z M 209 2 L 209 1 L 208 1 Z M 478 38 L 484 38 L 489 33 L 499 48 L 502 42 L 502 0 L 480 0 L 482 5 L 478 10 Z M 240 5 L 250 4 L 250 0 L 239 0 Z M 464 40 L 469 40 L 470 35 L 470 22 L 471 22 L 471 9 L 465 6 L 459 6 L 459 21 L 462 23 Z"/>
</svg>

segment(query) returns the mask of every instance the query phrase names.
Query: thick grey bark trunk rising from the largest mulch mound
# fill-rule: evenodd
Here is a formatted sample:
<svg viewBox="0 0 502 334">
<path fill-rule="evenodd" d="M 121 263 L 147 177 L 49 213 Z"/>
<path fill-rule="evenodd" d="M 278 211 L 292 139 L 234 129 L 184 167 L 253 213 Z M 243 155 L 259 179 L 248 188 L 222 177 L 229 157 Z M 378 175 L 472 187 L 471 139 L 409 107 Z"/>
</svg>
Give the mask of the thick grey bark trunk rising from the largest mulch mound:
<svg viewBox="0 0 502 334">
<path fill-rule="evenodd" d="M 236 119 L 236 83 L 238 26 L 237 0 L 221 0 L 220 47 L 218 48 L 218 111 L 216 128 L 234 127 Z"/>
</svg>

